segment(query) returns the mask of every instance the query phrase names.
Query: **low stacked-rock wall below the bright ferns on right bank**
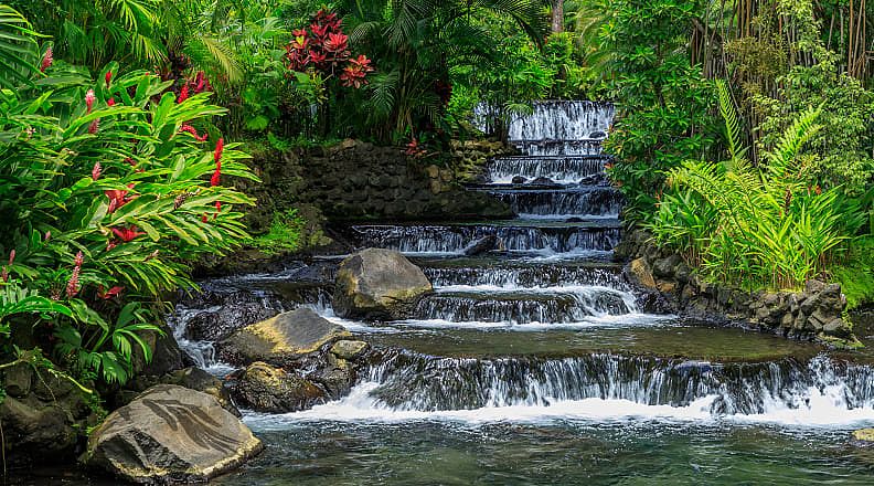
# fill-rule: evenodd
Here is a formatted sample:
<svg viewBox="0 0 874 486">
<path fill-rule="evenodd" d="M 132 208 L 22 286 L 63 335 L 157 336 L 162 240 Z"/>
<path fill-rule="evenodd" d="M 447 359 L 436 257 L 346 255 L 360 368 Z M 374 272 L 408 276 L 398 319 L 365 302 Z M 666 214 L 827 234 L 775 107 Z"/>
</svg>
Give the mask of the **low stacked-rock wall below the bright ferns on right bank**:
<svg viewBox="0 0 874 486">
<path fill-rule="evenodd" d="M 662 305 L 693 317 L 732 320 L 787 337 L 817 338 L 835 347 L 854 347 L 852 325 L 843 319 L 846 298 L 840 284 L 809 281 L 802 292 L 746 292 L 706 282 L 683 257 L 659 249 L 651 235 L 631 229 L 616 249 L 630 261 L 631 281 L 649 288 Z"/>
</svg>

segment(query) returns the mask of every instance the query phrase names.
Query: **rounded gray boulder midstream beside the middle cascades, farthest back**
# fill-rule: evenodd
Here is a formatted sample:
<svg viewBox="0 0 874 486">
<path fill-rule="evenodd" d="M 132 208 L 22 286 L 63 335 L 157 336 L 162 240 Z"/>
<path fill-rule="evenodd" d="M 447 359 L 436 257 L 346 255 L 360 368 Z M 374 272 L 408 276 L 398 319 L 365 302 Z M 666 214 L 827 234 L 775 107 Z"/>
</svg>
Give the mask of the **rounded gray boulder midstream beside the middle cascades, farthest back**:
<svg viewBox="0 0 874 486">
<path fill-rule="evenodd" d="M 403 319 L 433 290 L 422 270 L 401 253 L 367 249 L 340 264 L 333 308 L 347 318 Z"/>
</svg>

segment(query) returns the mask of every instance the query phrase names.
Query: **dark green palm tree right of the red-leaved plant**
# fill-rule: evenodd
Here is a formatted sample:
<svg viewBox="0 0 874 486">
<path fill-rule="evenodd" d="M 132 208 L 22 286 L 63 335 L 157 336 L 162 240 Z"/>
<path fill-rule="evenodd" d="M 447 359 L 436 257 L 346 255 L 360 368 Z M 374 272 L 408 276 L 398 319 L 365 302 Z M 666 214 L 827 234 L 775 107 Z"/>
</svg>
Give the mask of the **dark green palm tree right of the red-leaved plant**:
<svg viewBox="0 0 874 486">
<path fill-rule="evenodd" d="M 543 0 L 341 1 L 352 42 L 373 50 L 367 55 L 377 61 L 366 119 L 377 127 L 374 135 L 387 140 L 438 127 L 448 103 L 449 66 L 494 59 L 483 15 L 511 19 L 542 43 L 543 7 Z"/>
</svg>

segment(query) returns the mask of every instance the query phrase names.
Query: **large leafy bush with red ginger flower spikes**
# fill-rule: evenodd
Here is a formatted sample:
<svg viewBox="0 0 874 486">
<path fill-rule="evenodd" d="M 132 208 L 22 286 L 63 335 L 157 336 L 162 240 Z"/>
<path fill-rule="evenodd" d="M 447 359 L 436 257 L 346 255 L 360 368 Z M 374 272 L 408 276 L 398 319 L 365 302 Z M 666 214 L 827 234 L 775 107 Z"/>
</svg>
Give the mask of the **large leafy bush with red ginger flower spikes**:
<svg viewBox="0 0 874 486">
<path fill-rule="evenodd" d="M 79 376 L 124 382 L 137 348 L 150 358 L 143 334 L 164 296 L 194 286 L 185 262 L 248 237 L 233 207 L 253 200 L 222 178 L 257 179 L 235 144 L 207 135 L 225 112 L 210 93 L 178 98 L 172 82 L 117 64 L 94 82 L 45 59 L 47 76 L 0 91 L 7 351 L 41 346 Z"/>
</svg>

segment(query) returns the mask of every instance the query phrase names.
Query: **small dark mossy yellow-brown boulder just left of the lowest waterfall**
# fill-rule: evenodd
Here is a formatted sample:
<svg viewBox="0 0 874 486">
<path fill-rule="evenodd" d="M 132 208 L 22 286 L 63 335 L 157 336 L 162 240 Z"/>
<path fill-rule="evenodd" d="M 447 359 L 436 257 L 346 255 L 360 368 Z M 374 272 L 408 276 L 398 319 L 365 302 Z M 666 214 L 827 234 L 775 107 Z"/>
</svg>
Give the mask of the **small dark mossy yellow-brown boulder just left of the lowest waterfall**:
<svg viewBox="0 0 874 486">
<path fill-rule="evenodd" d="M 260 361 L 246 368 L 233 388 L 233 395 L 239 406 L 265 413 L 306 410 L 323 402 L 326 397 L 312 382 Z"/>
</svg>

